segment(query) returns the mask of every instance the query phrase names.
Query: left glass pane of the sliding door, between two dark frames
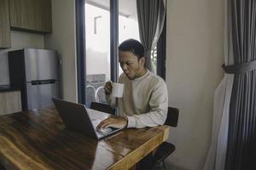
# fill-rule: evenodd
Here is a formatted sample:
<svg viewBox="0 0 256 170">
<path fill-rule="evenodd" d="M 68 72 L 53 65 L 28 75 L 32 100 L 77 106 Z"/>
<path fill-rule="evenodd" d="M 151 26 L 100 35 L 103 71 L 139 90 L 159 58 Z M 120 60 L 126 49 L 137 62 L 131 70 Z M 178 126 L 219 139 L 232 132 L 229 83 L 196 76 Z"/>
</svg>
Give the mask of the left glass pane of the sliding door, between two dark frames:
<svg viewBox="0 0 256 170">
<path fill-rule="evenodd" d="M 110 80 L 109 0 L 85 1 L 86 105 L 106 102 L 104 84 Z"/>
</svg>

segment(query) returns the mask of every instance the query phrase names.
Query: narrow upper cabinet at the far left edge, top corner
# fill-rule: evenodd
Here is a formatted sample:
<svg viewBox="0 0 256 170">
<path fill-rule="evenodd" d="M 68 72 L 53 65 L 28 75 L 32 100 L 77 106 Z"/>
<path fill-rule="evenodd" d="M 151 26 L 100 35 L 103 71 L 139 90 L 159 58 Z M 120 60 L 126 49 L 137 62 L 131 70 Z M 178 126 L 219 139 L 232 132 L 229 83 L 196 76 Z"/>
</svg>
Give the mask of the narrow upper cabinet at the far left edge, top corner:
<svg viewBox="0 0 256 170">
<path fill-rule="evenodd" d="M 0 0 L 0 48 L 10 48 L 9 0 Z"/>
</svg>

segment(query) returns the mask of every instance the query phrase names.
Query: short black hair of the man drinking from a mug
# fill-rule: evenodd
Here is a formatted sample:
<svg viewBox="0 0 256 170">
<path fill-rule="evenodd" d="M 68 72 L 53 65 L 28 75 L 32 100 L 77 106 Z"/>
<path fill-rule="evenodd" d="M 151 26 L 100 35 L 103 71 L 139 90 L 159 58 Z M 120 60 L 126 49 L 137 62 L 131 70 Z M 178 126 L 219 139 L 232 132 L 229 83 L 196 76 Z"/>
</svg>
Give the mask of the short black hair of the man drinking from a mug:
<svg viewBox="0 0 256 170">
<path fill-rule="evenodd" d="M 128 39 L 120 43 L 119 51 L 130 51 L 132 54 L 137 55 L 137 59 L 141 59 L 144 56 L 143 44 L 135 39 Z"/>
</svg>

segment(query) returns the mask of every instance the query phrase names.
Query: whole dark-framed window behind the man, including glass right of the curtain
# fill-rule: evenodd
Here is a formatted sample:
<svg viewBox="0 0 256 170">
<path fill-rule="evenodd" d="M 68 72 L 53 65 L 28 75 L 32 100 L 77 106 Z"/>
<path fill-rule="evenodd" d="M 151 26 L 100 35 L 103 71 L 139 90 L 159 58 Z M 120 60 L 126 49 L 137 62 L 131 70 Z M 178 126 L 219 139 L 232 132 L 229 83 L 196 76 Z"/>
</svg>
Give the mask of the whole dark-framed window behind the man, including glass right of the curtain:
<svg viewBox="0 0 256 170">
<path fill-rule="evenodd" d="M 122 73 L 118 44 L 128 38 L 139 40 L 137 6 L 136 0 L 76 0 L 76 10 L 79 103 L 89 107 L 91 101 L 106 102 L 105 82 L 116 81 Z M 157 73 L 164 63 L 162 45 L 152 50 Z"/>
</svg>

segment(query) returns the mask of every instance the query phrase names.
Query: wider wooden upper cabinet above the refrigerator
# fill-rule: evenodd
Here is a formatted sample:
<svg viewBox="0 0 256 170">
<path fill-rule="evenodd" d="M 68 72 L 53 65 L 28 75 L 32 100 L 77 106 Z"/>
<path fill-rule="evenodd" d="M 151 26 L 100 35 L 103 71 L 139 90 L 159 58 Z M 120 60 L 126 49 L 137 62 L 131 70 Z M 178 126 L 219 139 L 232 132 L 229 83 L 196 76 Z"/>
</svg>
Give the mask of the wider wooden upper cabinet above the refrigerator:
<svg viewBox="0 0 256 170">
<path fill-rule="evenodd" d="M 51 0 L 9 0 L 12 30 L 51 33 Z"/>
</svg>

